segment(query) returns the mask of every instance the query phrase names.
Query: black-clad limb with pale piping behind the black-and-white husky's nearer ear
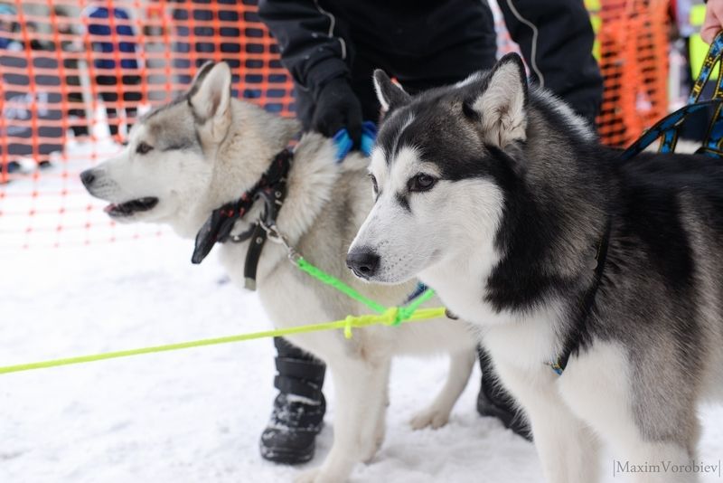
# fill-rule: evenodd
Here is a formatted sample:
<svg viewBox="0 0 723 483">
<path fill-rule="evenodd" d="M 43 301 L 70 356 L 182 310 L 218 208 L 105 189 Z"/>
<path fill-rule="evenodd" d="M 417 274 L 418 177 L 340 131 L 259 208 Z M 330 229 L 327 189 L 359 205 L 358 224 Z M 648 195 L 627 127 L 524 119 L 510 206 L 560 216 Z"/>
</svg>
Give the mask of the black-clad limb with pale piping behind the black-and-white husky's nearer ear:
<svg viewBox="0 0 723 483">
<path fill-rule="evenodd" d="M 531 77 L 594 123 L 603 77 L 593 57 L 595 33 L 583 0 L 500 0 L 504 23 Z"/>
</svg>

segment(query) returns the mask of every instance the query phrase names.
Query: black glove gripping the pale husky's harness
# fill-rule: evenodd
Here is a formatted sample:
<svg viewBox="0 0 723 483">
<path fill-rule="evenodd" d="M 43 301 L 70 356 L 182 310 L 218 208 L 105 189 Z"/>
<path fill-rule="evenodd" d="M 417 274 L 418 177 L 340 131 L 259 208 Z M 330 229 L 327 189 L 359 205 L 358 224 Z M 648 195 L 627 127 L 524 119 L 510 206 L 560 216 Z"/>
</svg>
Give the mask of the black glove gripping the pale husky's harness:
<svg viewBox="0 0 723 483">
<path fill-rule="evenodd" d="M 362 104 L 349 85 L 349 81 L 337 78 L 327 82 L 316 99 L 312 128 L 325 137 L 333 137 L 339 129 L 346 128 L 355 147 L 362 139 Z"/>
</svg>

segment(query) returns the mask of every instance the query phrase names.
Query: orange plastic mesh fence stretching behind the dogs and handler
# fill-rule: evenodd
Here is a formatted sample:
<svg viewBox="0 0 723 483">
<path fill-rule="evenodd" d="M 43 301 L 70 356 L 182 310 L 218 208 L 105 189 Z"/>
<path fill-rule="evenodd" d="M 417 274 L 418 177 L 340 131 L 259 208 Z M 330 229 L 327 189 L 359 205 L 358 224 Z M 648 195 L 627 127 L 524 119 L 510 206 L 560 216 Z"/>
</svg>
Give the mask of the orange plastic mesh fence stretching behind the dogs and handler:
<svg viewBox="0 0 723 483">
<path fill-rule="evenodd" d="M 666 109 L 664 4 L 602 2 L 608 144 Z M 289 76 L 256 10 L 256 0 L 0 4 L 0 251 L 162 234 L 116 226 L 79 174 L 117 153 L 138 113 L 174 99 L 203 62 L 229 62 L 234 95 L 293 115 Z M 500 51 L 515 50 L 494 10 Z"/>
</svg>

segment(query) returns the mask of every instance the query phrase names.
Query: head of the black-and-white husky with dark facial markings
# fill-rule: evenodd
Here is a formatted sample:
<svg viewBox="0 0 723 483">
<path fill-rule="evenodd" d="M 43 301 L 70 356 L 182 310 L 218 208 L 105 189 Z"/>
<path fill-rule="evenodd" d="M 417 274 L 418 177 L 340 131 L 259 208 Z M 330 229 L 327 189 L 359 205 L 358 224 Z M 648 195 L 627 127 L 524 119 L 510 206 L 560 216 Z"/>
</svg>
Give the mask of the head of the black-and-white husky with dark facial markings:
<svg viewBox="0 0 723 483">
<path fill-rule="evenodd" d="M 432 272 L 453 259 L 459 266 L 465 257 L 489 272 L 503 254 L 498 232 L 507 194 L 520 191 L 531 169 L 528 145 L 556 142 L 554 136 L 540 141 L 540 130 L 528 139 L 538 114 L 531 112 L 521 58 L 508 54 L 491 71 L 415 98 L 382 71 L 374 73 L 374 84 L 386 110 L 371 154 L 376 202 L 347 264 L 358 277 L 380 283 L 416 276 L 433 283 Z M 544 92 L 532 93 L 532 102 L 575 118 L 567 106 L 541 99 Z M 583 125 L 577 118 L 581 136 L 590 137 Z"/>
</svg>

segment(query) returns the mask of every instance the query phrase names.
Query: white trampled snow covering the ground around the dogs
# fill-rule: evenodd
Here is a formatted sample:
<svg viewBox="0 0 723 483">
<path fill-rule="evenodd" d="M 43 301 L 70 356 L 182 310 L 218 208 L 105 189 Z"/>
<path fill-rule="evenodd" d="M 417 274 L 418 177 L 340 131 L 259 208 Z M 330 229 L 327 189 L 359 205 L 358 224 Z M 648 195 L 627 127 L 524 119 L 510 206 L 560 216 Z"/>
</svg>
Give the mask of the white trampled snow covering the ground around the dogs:
<svg viewBox="0 0 723 483">
<path fill-rule="evenodd" d="M 73 159 L 37 180 L 0 187 L 8 194 L 0 197 L 0 211 L 22 213 L 29 202 L 11 194 L 52 191 L 62 183 L 69 189 L 63 203 L 92 206 L 62 213 L 63 225 L 93 226 L 65 230 L 62 236 L 77 236 L 79 243 L 63 238 L 57 249 L 42 246 L 52 247 L 59 232 L 38 231 L 33 236 L 47 240 L 21 250 L 30 222 L 0 216 L 0 365 L 270 327 L 256 296 L 227 283 L 213 256 L 201 266 L 190 263 L 190 241 L 167 231 L 122 241 L 139 230 L 157 231 L 134 226 L 112 227 L 118 242 L 97 241 L 94 233 L 110 230 L 98 202 L 83 193 L 75 175 L 57 176 L 89 164 Z M 50 210 L 54 202 L 44 200 L 36 198 L 33 206 Z M 55 223 L 60 215 L 47 216 Z M 272 343 L 260 340 L 0 375 L 0 482 L 289 481 L 297 469 L 258 455 L 275 395 L 273 368 Z M 409 428 L 445 371 L 441 358 L 395 362 L 387 440 L 371 464 L 354 470 L 352 482 L 540 481 L 531 443 L 477 415 L 479 373 L 446 428 Z M 331 389 L 327 382 L 326 426 L 309 465 L 320 464 L 332 442 Z M 702 417 L 700 459 L 718 464 L 723 410 L 705 409 Z M 624 480 L 613 478 L 612 457 L 603 465 L 606 482 Z M 702 480 L 720 481 L 718 475 Z"/>
</svg>

